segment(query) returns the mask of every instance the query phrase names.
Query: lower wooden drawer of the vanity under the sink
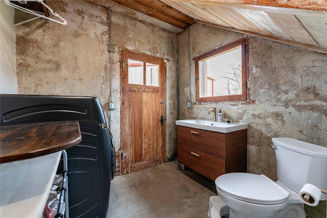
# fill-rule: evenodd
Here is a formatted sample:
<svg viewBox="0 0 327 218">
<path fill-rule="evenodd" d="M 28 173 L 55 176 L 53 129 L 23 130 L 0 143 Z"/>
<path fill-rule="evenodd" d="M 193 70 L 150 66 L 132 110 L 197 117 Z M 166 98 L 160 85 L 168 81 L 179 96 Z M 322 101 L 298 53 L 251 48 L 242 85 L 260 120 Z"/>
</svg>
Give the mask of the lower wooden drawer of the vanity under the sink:
<svg viewBox="0 0 327 218">
<path fill-rule="evenodd" d="M 183 144 L 178 144 L 177 159 L 178 162 L 212 180 L 225 173 L 225 160 L 194 150 Z"/>
</svg>

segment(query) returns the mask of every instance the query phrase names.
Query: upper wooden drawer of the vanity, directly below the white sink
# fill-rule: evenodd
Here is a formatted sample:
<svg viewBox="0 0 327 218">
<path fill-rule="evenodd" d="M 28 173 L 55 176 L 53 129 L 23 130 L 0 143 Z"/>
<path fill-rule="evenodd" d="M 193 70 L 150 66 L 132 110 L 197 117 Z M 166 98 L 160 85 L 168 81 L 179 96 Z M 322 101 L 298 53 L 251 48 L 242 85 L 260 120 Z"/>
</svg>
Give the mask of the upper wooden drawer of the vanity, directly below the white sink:
<svg viewBox="0 0 327 218">
<path fill-rule="evenodd" d="M 219 158 L 225 157 L 226 134 L 177 126 L 177 147 L 181 144 Z"/>
</svg>

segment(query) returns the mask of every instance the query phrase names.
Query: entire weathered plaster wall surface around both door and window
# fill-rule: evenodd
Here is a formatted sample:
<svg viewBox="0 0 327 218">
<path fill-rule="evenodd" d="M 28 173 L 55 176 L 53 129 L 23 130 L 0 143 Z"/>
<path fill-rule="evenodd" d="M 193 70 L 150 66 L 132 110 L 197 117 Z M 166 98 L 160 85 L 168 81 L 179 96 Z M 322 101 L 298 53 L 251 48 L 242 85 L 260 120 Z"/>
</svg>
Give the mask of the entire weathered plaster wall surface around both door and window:
<svg viewBox="0 0 327 218">
<path fill-rule="evenodd" d="M 249 84 L 253 104 L 189 101 L 188 31 L 178 35 L 112 12 L 112 87 L 109 11 L 84 1 L 47 2 L 68 25 L 43 19 L 15 28 L 18 93 L 97 96 L 120 148 L 120 50 L 166 58 L 166 156 L 176 151 L 176 119 L 206 118 L 209 107 L 225 118 L 248 123 L 248 172 L 276 179 L 272 137 L 292 137 L 327 147 L 327 55 L 249 37 Z M 16 22 L 28 18 L 16 12 Z M 191 101 L 195 100 L 193 58 L 245 35 L 195 24 L 191 28 Z M 178 63 L 177 63 L 178 47 Z M 178 76 L 177 76 L 178 75 Z M 178 83 L 178 89 L 177 89 Z M 110 112 L 107 103 L 118 108 Z M 178 95 L 178 96 L 176 96 Z M 178 111 L 179 110 L 179 117 Z M 324 206 L 323 206 L 324 204 Z M 321 206 L 322 205 L 322 206 Z M 325 217 L 325 202 L 309 217 Z M 315 215 L 317 214 L 317 215 Z"/>
</svg>

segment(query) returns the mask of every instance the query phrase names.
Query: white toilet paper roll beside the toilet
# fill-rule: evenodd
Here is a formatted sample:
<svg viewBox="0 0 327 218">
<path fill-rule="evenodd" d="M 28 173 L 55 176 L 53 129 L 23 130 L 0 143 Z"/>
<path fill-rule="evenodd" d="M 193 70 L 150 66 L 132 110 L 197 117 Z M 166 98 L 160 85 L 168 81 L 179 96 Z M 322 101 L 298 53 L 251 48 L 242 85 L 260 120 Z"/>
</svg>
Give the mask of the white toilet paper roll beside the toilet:
<svg viewBox="0 0 327 218">
<path fill-rule="evenodd" d="M 307 183 L 303 185 L 298 195 L 302 203 L 314 207 L 319 204 L 321 190 L 317 186 Z"/>
</svg>

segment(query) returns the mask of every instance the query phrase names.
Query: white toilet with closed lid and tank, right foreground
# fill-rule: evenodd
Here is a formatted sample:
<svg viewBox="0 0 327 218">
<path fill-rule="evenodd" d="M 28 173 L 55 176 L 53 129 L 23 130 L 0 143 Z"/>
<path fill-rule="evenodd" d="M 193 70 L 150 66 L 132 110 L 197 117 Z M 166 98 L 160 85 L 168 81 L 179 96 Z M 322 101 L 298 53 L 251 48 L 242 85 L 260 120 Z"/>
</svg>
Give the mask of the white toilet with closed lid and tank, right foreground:
<svg viewBox="0 0 327 218">
<path fill-rule="evenodd" d="M 277 181 L 265 175 L 229 173 L 216 180 L 208 217 L 306 218 L 299 192 L 306 183 L 327 187 L 327 148 L 293 138 L 272 138 Z M 321 193 L 320 200 L 327 196 Z"/>
</svg>

